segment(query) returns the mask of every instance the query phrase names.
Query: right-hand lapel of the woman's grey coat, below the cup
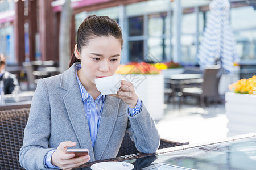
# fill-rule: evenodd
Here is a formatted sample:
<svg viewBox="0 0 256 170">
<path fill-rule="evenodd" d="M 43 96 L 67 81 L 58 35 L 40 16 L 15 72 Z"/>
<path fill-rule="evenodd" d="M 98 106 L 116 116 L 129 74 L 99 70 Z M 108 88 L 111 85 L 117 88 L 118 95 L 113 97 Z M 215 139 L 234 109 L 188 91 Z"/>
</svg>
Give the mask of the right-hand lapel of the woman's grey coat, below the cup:
<svg viewBox="0 0 256 170">
<path fill-rule="evenodd" d="M 104 108 L 102 110 L 100 126 L 98 128 L 96 142 L 94 144 L 94 155 L 96 160 L 100 160 L 106 146 L 108 145 L 109 138 L 114 129 L 115 121 L 117 120 L 118 105 L 120 99 L 117 97 L 106 96 Z M 115 105 L 113 105 L 115 104 Z"/>
</svg>

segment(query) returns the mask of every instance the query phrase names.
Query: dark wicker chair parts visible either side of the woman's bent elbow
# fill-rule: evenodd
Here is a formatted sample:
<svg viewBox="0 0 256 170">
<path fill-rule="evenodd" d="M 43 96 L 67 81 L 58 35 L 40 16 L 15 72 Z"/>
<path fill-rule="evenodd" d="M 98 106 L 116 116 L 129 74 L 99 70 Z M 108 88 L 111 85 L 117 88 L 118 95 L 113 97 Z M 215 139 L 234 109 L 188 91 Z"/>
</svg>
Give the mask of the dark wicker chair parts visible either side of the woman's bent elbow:
<svg viewBox="0 0 256 170">
<path fill-rule="evenodd" d="M 175 141 L 171 141 L 170 139 L 161 138 L 159 149 L 180 146 L 180 145 L 187 145 L 187 144 L 189 144 L 189 142 L 175 142 Z M 136 149 L 135 143 L 131 141 L 129 134 L 126 133 L 125 137 L 123 137 L 123 142 L 121 144 L 117 157 L 130 155 L 130 154 L 137 154 L 137 153 L 139 153 L 139 151 Z"/>
</svg>

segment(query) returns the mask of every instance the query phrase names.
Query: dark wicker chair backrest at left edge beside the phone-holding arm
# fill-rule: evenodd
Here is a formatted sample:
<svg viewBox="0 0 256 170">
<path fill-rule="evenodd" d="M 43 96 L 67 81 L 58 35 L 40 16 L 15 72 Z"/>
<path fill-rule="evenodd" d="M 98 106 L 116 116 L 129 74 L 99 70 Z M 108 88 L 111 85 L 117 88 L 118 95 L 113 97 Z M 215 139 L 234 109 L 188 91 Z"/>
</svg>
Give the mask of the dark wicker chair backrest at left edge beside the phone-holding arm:
<svg viewBox="0 0 256 170">
<path fill-rule="evenodd" d="M 0 111 L 0 167 L 23 169 L 19 164 L 24 128 L 30 109 Z"/>
</svg>

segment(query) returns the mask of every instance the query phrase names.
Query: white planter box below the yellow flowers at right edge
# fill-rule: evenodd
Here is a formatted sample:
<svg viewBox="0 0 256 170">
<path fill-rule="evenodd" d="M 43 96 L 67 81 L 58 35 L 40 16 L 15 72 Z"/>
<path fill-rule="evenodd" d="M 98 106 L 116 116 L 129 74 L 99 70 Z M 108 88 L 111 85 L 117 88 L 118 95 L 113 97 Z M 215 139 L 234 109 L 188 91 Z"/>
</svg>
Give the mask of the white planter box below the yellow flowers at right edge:
<svg viewBox="0 0 256 170">
<path fill-rule="evenodd" d="M 256 132 L 256 95 L 227 92 L 225 100 L 228 137 Z"/>
</svg>

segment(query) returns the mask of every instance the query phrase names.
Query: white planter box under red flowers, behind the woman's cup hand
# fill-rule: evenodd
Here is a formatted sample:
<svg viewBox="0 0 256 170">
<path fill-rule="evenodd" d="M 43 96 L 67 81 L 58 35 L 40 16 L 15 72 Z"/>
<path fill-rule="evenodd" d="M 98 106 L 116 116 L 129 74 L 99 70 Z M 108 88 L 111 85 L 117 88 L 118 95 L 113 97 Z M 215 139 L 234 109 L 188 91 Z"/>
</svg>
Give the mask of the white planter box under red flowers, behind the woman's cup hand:
<svg viewBox="0 0 256 170">
<path fill-rule="evenodd" d="M 126 74 L 123 80 L 133 83 L 136 94 L 146 105 L 150 116 L 160 120 L 164 116 L 164 76 L 163 74 Z"/>
</svg>

